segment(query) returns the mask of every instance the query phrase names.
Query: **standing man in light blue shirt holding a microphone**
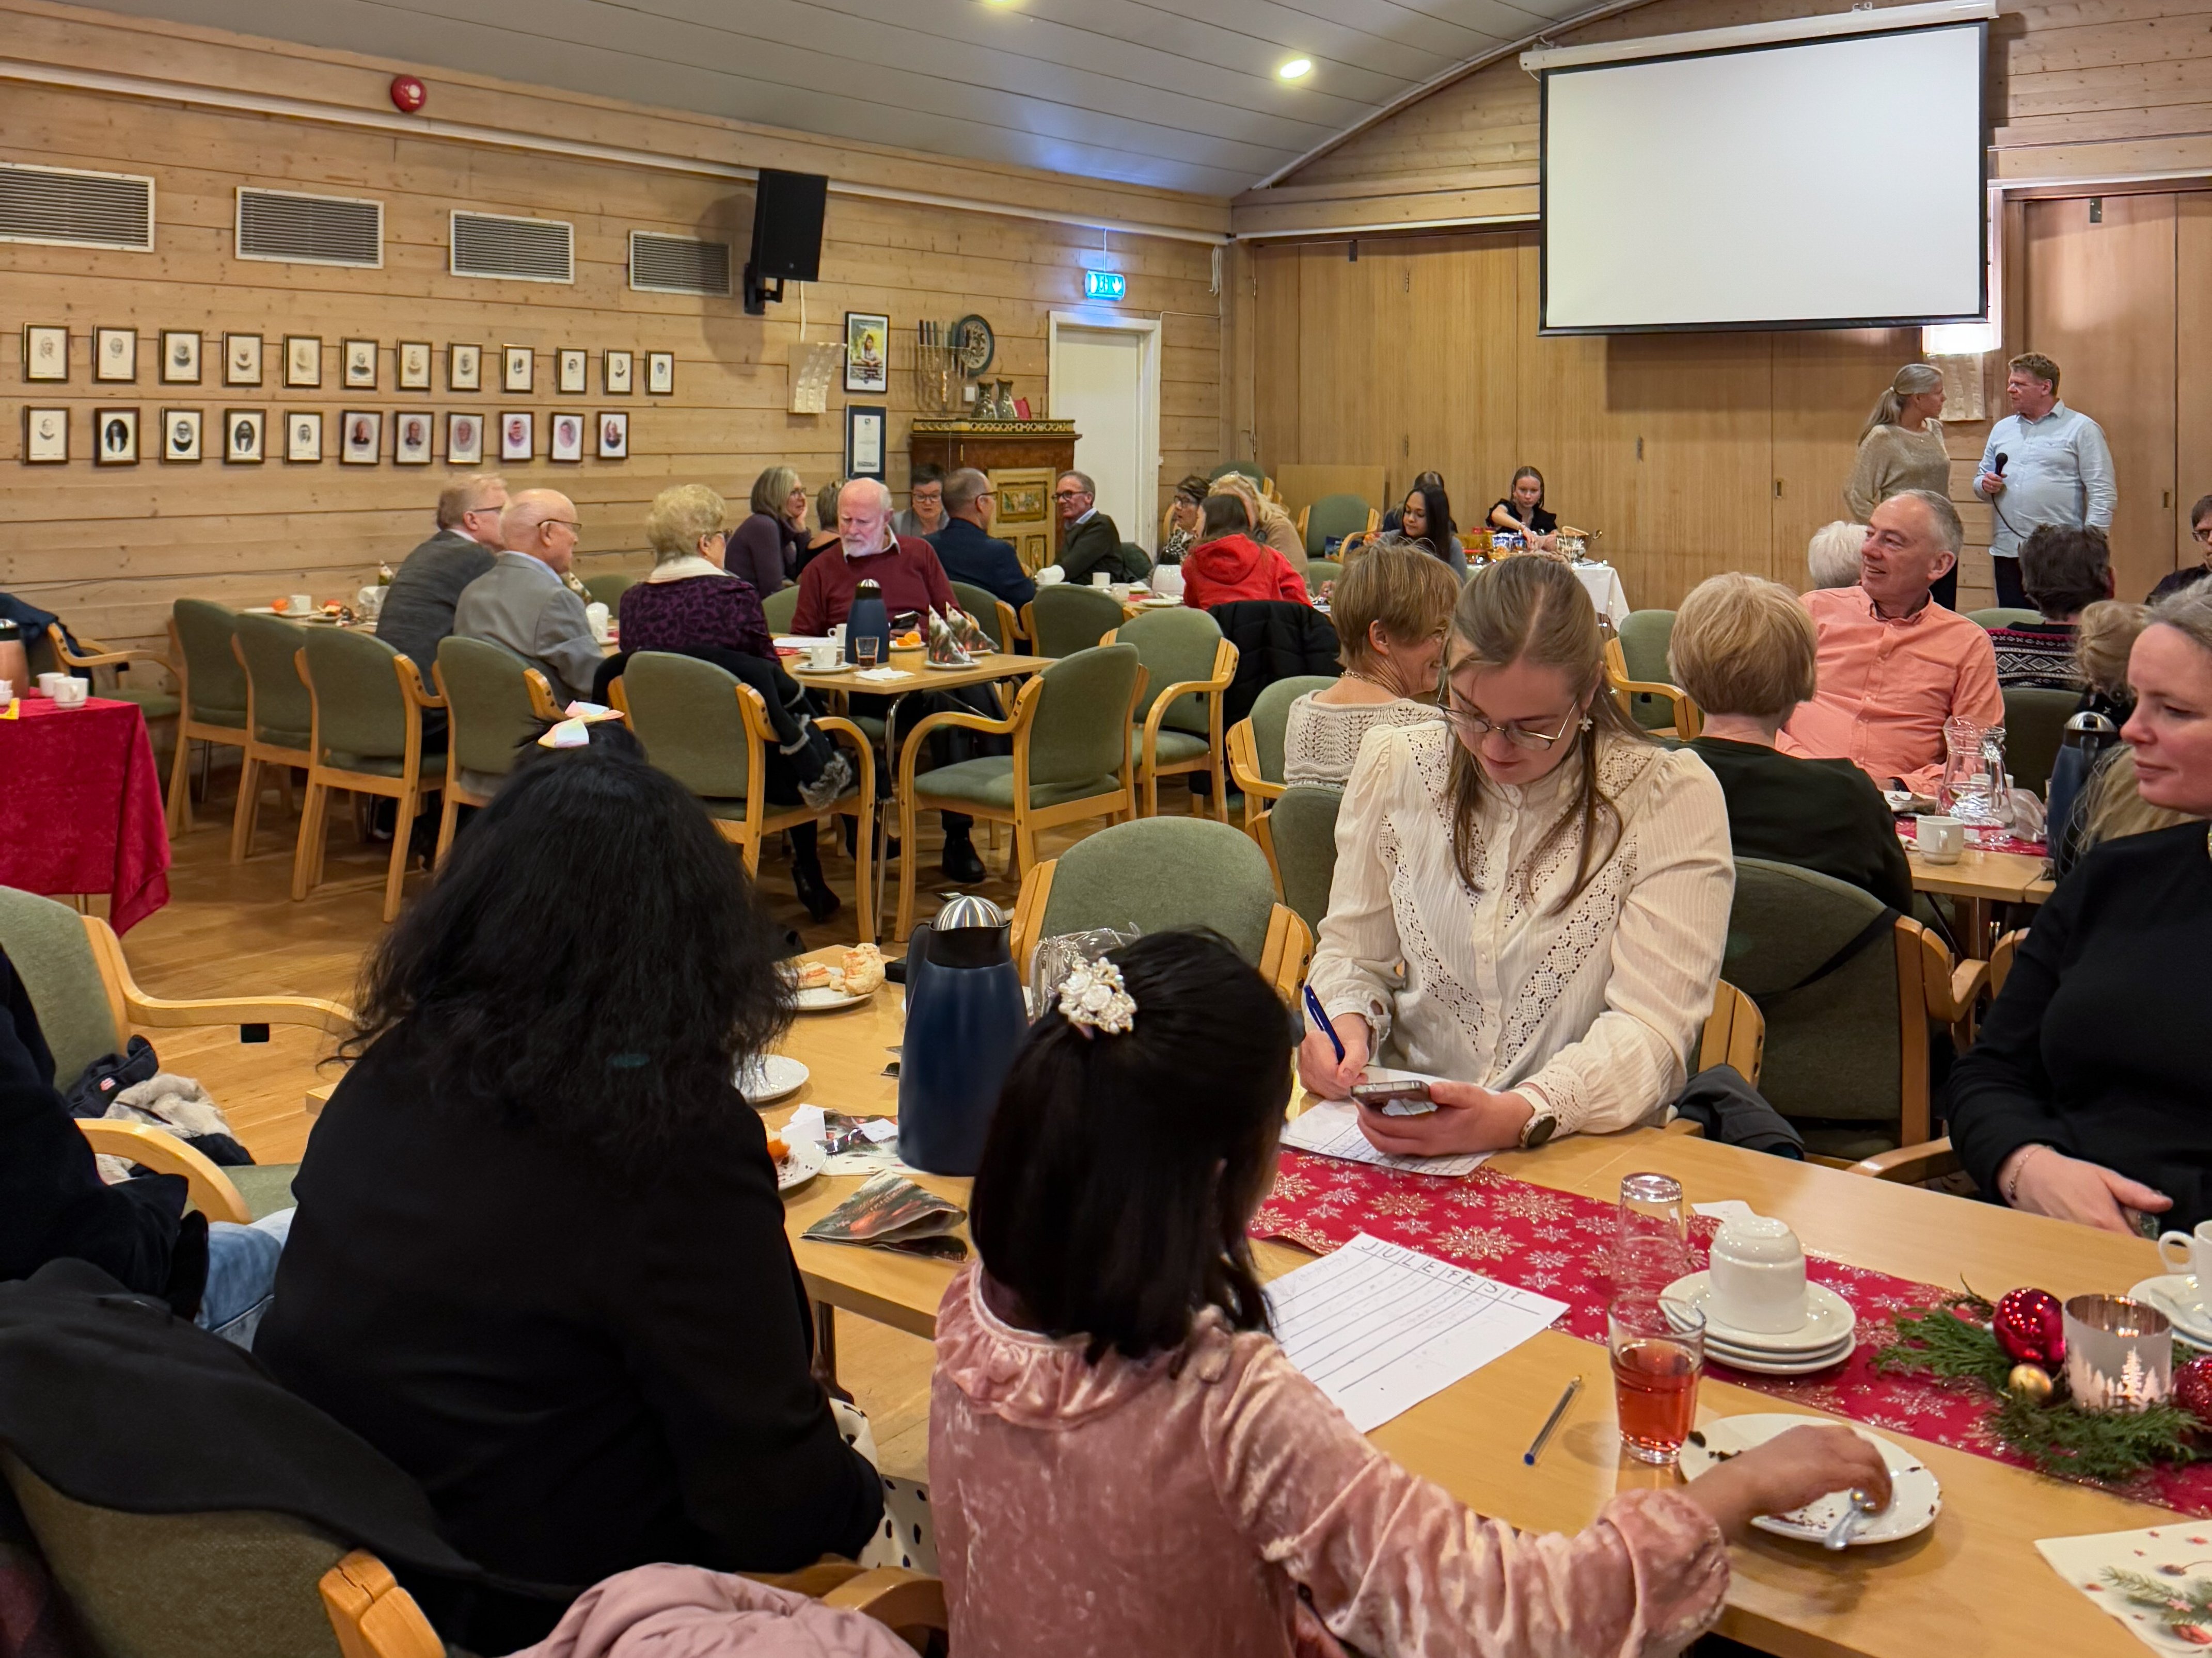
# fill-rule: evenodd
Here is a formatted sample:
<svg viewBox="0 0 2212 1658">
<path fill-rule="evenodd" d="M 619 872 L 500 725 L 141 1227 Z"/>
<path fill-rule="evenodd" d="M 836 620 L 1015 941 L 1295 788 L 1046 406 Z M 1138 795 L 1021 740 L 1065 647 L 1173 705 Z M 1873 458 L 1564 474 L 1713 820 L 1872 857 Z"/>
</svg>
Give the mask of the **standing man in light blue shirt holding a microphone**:
<svg viewBox="0 0 2212 1658">
<path fill-rule="evenodd" d="M 2028 351 L 2006 369 L 2004 396 L 2013 413 L 1989 429 L 1973 489 L 1997 520 L 1989 544 L 1997 604 L 2028 610 L 2033 606 L 2020 586 L 2020 544 L 2039 524 L 2110 531 L 2119 491 L 2104 427 L 2059 402 L 2059 365 Z"/>
</svg>

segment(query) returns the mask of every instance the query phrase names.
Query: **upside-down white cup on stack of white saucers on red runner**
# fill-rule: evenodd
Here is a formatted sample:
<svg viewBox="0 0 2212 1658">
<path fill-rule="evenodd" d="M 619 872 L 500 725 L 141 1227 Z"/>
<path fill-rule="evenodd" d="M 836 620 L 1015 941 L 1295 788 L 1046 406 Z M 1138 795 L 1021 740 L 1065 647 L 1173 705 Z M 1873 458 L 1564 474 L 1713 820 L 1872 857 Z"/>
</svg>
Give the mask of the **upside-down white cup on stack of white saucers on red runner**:
<svg viewBox="0 0 2212 1658">
<path fill-rule="evenodd" d="M 1712 1240 L 1712 1269 L 1661 1293 L 1674 1324 L 1705 1320 L 1705 1357 L 1756 1375 L 1812 1375 L 1851 1357 L 1858 1315 L 1827 1284 L 1805 1278 L 1805 1247 L 1781 1220 L 1728 1220 Z"/>
</svg>

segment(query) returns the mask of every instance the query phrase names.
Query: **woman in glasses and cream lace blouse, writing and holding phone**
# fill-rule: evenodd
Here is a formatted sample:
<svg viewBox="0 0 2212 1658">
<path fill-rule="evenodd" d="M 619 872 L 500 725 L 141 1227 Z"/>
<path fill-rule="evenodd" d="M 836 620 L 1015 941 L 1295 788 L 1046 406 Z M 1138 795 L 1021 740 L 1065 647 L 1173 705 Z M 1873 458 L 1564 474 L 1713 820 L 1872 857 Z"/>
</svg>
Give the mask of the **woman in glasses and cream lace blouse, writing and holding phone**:
<svg viewBox="0 0 2212 1658">
<path fill-rule="evenodd" d="M 1310 975 L 1345 1054 L 1316 1026 L 1298 1074 L 1323 1099 L 1369 1059 L 1449 1079 L 1427 1116 L 1360 1108 L 1411 1156 L 1650 1121 L 1721 973 L 1721 785 L 1604 694 L 1597 612 L 1551 559 L 1467 581 L 1444 696 L 1444 723 L 1360 747 Z"/>
</svg>

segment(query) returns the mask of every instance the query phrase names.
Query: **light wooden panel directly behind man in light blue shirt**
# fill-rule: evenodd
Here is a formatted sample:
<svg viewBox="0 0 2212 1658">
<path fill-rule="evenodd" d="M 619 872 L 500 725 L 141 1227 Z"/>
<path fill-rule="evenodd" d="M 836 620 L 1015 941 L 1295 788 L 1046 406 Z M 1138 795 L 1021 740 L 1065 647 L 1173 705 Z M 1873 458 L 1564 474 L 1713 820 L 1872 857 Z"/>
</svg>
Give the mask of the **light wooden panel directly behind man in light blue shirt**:
<svg viewBox="0 0 2212 1658">
<path fill-rule="evenodd" d="M 2086 197 L 2026 203 L 2024 336 L 2059 365 L 2066 405 L 2112 444 L 2112 575 L 2139 597 L 2174 568 L 2177 203 L 2101 201 L 2104 223 L 2090 223 Z"/>
</svg>

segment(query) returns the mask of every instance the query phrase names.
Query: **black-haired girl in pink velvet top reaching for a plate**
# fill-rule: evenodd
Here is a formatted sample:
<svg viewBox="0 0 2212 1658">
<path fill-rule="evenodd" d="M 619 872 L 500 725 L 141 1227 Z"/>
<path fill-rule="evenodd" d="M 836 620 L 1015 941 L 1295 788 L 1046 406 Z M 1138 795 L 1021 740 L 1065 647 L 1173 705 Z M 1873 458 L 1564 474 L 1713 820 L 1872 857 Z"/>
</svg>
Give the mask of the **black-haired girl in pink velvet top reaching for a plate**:
<svg viewBox="0 0 2212 1658">
<path fill-rule="evenodd" d="M 1754 1514 L 1849 1486 L 1887 1503 L 1843 1428 L 1624 1492 L 1573 1536 L 1391 1463 L 1283 1357 L 1252 1273 L 1281 1001 L 1201 933 L 1099 977 L 1015 1059 L 975 1176 L 982 1260 L 938 1309 L 931 1510 L 962 1658 L 1672 1654 L 1719 1618 Z"/>
</svg>

